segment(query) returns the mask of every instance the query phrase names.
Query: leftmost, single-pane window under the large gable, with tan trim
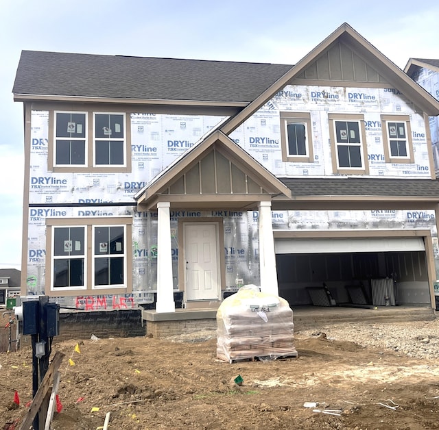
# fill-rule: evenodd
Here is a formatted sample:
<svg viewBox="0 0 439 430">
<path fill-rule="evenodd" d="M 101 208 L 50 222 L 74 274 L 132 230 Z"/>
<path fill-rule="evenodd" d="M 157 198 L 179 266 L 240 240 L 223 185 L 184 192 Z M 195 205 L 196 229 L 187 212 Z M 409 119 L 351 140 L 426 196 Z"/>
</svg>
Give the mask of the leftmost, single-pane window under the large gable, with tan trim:
<svg viewBox="0 0 439 430">
<path fill-rule="evenodd" d="M 313 162 L 309 112 L 281 112 L 282 160 Z"/>
</svg>

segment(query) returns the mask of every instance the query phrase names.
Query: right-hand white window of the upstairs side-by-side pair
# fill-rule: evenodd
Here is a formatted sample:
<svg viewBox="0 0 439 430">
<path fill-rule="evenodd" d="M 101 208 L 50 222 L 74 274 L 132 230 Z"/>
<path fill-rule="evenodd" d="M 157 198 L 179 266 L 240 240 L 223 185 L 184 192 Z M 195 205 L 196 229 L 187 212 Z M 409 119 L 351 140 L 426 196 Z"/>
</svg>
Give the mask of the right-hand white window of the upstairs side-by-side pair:
<svg viewBox="0 0 439 430">
<path fill-rule="evenodd" d="M 125 114 L 93 115 L 95 166 L 125 166 Z"/>
</svg>

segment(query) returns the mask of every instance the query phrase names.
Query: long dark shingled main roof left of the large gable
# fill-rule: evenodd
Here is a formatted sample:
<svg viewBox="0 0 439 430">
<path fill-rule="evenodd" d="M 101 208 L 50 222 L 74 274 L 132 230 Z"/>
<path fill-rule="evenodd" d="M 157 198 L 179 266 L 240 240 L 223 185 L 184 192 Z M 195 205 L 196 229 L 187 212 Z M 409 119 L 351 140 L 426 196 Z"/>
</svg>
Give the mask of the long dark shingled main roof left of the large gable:
<svg viewBox="0 0 439 430">
<path fill-rule="evenodd" d="M 13 92 L 16 96 L 249 103 L 291 67 L 22 51 Z"/>
</svg>

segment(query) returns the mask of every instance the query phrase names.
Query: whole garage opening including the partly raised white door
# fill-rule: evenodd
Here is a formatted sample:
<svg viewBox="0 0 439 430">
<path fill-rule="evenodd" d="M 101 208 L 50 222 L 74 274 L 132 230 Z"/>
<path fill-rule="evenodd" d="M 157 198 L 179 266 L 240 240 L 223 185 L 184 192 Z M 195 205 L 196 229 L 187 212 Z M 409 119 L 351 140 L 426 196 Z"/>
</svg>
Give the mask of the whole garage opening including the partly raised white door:
<svg viewBox="0 0 439 430">
<path fill-rule="evenodd" d="M 361 304 L 361 294 L 368 305 L 431 303 L 423 238 L 276 239 L 275 249 L 279 294 L 292 307 L 325 305 L 313 296 L 323 286 L 337 305 Z M 390 303 L 377 298 L 381 280 Z"/>
</svg>

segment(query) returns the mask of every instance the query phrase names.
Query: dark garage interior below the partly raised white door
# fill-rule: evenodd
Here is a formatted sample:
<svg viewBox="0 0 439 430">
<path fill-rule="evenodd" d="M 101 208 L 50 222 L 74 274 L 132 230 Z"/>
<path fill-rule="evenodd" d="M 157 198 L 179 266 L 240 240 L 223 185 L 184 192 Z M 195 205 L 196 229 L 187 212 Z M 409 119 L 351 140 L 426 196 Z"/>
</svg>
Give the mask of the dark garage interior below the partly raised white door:
<svg viewBox="0 0 439 430">
<path fill-rule="evenodd" d="M 431 303 L 425 251 L 283 253 L 276 255 L 276 266 L 279 295 L 292 307 Z M 332 300 L 320 300 L 319 290 Z"/>
</svg>

